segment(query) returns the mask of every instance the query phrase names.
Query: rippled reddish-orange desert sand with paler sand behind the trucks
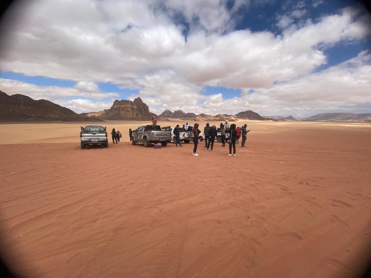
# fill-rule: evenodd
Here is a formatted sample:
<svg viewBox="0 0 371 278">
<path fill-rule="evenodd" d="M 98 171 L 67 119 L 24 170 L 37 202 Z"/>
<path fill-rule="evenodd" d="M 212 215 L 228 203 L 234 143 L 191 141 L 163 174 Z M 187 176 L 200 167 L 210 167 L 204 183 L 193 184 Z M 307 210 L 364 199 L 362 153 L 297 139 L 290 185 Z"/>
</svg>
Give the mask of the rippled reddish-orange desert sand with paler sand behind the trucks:
<svg viewBox="0 0 371 278">
<path fill-rule="evenodd" d="M 237 156 L 199 143 L 194 157 L 130 145 L 139 124 L 106 122 L 124 141 L 83 150 L 80 124 L 0 125 L 0 252 L 18 274 L 362 275 L 370 125 L 251 121 Z"/>
</svg>

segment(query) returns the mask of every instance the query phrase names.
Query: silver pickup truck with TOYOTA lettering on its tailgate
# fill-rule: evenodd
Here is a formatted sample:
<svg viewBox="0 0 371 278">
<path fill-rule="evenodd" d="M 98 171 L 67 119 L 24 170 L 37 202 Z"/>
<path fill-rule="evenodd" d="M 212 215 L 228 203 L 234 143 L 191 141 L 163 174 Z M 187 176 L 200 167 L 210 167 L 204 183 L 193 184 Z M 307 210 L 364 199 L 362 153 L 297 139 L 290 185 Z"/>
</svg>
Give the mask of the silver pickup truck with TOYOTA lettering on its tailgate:
<svg viewBox="0 0 371 278">
<path fill-rule="evenodd" d="M 151 146 L 151 143 L 161 143 L 162 146 L 166 146 L 171 141 L 171 132 L 161 130 L 161 126 L 146 125 L 139 126 L 133 131 L 131 135 L 131 143 L 143 143 L 145 147 Z"/>
</svg>

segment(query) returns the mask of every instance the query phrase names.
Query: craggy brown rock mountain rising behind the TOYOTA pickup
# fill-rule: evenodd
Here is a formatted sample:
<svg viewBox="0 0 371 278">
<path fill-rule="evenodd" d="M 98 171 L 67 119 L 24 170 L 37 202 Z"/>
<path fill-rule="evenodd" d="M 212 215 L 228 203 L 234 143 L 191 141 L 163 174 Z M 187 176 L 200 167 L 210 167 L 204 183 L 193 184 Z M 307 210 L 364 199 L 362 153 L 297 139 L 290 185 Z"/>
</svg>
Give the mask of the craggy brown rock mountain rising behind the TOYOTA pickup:
<svg viewBox="0 0 371 278">
<path fill-rule="evenodd" d="M 152 116 L 148 106 L 140 97 L 131 100 L 115 100 L 110 109 L 105 109 L 99 112 L 90 112 L 86 117 L 98 117 L 103 120 L 152 120 Z"/>
</svg>

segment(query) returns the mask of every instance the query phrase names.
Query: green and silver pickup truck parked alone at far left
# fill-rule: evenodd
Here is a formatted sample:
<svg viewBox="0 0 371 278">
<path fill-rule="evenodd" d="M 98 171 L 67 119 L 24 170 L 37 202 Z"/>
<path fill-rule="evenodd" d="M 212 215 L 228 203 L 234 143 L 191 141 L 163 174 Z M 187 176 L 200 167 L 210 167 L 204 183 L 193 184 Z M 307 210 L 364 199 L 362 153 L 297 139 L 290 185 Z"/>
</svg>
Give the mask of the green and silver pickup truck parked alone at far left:
<svg viewBox="0 0 371 278">
<path fill-rule="evenodd" d="M 106 128 L 103 126 L 81 126 L 80 132 L 81 149 L 85 149 L 86 145 L 102 144 L 105 148 L 108 147 L 108 138 Z"/>
</svg>

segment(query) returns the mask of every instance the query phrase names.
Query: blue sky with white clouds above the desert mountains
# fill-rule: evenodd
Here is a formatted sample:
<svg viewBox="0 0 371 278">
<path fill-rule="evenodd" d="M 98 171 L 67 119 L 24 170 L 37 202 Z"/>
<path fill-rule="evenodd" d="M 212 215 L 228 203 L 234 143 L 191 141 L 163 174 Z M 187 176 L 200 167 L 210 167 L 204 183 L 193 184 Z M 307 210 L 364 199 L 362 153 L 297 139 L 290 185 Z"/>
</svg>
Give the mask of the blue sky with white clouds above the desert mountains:
<svg viewBox="0 0 371 278">
<path fill-rule="evenodd" d="M 38 0 L 1 20 L 0 90 L 77 113 L 371 112 L 371 17 L 346 0 Z"/>
</svg>

